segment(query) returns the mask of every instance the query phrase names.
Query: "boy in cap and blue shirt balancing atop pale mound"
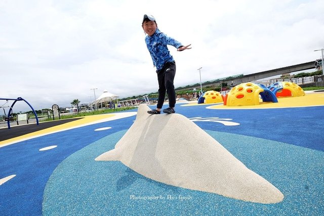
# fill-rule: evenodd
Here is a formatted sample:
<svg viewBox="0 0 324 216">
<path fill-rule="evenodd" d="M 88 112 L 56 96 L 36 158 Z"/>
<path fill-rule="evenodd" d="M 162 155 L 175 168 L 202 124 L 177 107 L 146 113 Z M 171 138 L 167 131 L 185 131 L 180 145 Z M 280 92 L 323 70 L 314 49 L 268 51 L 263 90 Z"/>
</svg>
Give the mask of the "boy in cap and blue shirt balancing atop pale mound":
<svg viewBox="0 0 324 216">
<path fill-rule="evenodd" d="M 176 75 L 176 62 L 173 59 L 167 45 L 174 46 L 177 51 L 191 49 L 188 46 L 183 46 L 180 42 L 168 37 L 165 33 L 157 28 L 155 18 L 151 15 L 144 15 L 142 28 L 147 34 L 145 43 L 148 51 L 151 54 L 153 65 L 156 67 L 157 82 L 158 82 L 158 99 L 155 110 L 147 111 L 148 114 L 160 114 L 166 93 L 169 97 L 169 107 L 164 109 L 164 113 L 175 113 L 174 106 L 176 104 L 176 91 L 173 81 Z"/>
</svg>

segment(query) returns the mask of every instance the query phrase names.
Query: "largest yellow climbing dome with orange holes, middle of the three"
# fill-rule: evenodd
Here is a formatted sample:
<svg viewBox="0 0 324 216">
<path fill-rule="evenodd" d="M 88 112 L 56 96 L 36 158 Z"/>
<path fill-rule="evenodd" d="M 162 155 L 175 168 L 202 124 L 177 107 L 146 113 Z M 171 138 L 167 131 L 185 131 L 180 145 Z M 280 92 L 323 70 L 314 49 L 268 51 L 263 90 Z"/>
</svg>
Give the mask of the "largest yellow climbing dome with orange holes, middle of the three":
<svg viewBox="0 0 324 216">
<path fill-rule="evenodd" d="M 227 106 L 247 106 L 260 104 L 263 102 L 278 102 L 275 94 L 262 84 L 241 83 L 233 87 L 225 96 L 224 105 Z"/>
</svg>

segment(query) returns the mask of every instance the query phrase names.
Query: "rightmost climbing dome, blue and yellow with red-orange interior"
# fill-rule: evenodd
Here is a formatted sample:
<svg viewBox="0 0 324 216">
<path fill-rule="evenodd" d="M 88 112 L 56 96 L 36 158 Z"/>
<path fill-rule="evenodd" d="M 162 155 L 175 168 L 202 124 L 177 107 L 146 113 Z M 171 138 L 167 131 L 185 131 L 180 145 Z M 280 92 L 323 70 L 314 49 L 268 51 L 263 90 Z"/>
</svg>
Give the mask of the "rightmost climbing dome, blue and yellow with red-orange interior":
<svg viewBox="0 0 324 216">
<path fill-rule="evenodd" d="M 299 97 L 305 96 L 304 90 L 292 82 L 273 83 L 268 87 L 277 97 Z"/>
</svg>

